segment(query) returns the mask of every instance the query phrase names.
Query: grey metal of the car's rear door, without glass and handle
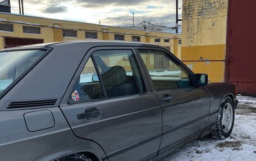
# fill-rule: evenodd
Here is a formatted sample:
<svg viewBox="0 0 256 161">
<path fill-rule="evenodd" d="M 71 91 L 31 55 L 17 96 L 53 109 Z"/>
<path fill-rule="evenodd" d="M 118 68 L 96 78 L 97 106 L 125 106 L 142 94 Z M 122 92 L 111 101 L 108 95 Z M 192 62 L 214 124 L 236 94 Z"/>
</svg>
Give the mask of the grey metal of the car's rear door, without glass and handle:
<svg viewBox="0 0 256 161">
<path fill-rule="evenodd" d="M 113 48 L 133 49 L 130 47 L 91 49 L 77 70 L 65 99 L 61 103 L 61 109 L 75 134 L 98 142 L 106 151 L 109 160 L 140 160 L 150 154 L 157 154 L 162 137 L 161 108 L 156 95 L 149 91 L 147 82 L 145 83 L 147 92 L 144 94 L 67 104 L 67 98 L 75 85 L 74 82 L 80 76 L 90 54 L 95 50 Z M 77 118 L 77 114 L 84 113 L 86 109 L 91 108 L 97 108 L 104 113 L 98 119 L 93 120 Z M 149 150 L 143 150 L 148 147 L 150 147 Z"/>
</svg>

